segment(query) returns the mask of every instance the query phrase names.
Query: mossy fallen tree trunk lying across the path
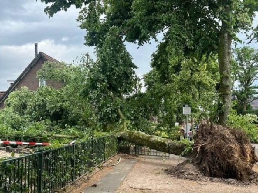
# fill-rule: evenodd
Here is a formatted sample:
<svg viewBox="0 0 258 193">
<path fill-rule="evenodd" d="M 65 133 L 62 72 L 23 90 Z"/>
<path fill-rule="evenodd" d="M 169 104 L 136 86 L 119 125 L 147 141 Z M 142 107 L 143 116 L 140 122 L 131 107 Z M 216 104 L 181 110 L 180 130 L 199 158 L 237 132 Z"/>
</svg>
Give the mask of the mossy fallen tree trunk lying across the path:
<svg viewBox="0 0 258 193">
<path fill-rule="evenodd" d="M 156 135 L 148 135 L 140 131 L 122 131 L 119 133 L 118 139 L 175 155 L 181 155 L 188 147 L 187 144 L 183 144 L 180 141 L 172 141 Z"/>
</svg>

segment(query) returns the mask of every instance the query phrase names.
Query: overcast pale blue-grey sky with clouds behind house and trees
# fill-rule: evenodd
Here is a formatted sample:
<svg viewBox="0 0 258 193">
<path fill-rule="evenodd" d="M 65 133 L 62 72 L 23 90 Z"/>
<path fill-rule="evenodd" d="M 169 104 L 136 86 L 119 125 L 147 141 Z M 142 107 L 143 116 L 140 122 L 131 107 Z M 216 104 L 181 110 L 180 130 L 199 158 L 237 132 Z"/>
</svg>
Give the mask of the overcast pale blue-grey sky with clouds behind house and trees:
<svg viewBox="0 0 258 193">
<path fill-rule="evenodd" d="M 43 12 L 45 6 L 35 0 L 0 0 L 0 91 L 7 90 L 7 80 L 16 80 L 33 60 L 34 43 L 39 44 L 39 51 L 66 63 L 86 52 L 95 58 L 94 48 L 83 45 L 86 32 L 77 27 L 78 10 L 72 7 L 49 19 Z M 126 45 L 142 77 L 150 70 L 157 43 L 152 41 L 139 49 L 134 44 Z"/>
</svg>

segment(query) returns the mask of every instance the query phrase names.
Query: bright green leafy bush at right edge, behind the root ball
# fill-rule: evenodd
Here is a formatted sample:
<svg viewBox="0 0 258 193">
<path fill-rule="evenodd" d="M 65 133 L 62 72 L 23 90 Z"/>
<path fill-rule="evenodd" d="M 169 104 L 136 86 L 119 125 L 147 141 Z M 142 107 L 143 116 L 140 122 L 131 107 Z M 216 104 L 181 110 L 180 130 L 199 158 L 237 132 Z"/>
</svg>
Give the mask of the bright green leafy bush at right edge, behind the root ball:
<svg viewBox="0 0 258 193">
<path fill-rule="evenodd" d="M 252 143 L 258 142 L 258 127 L 257 116 L 254 114 L 238 115 L 235 111 L 232 111 L 226 122 L 227 126 L 234 129 L 241 130 L 246 133 L 246 136 Z"/>
</svg>

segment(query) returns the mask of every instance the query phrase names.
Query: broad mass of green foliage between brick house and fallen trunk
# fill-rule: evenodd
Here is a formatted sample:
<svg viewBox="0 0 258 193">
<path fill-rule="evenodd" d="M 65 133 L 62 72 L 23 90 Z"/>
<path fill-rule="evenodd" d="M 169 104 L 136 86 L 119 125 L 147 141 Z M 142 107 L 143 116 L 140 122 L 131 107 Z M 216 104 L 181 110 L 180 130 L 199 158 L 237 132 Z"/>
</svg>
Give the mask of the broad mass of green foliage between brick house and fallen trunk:
<svg viewBox="0 0 258 193">
<path fill-rule="evenodd" d="M 121 58 L 112 63 L 112 57 L 107 54 L 115 53 L 113 43 L 117 48 L 115 52 L 120 50 Z M 73 65 L 46 62 L 42 66 L 38 77 L 62 81 L 62 88 L 46 86 L 30 91 L 23 87 L 12 92 L 5 109 L 0 111 L 0 138 L 44 140 L 57 147 L 68 141 L 54 139 L 55 134 L 75 135 L 86 140 L 99 131 L 114 131 L 114 127 L 120 127 L 120 120 L 130 119 L 129 115 L 121 119 L 118 109 L 121 114 L 132 112 L 133 107 L 125 104 L 138 89 L 138 78 L 132 69 L 135 65 L 121 39 L 110 36 L 103 45 L 107 49 L 99 48 L 96 63 L 86 55 L 78 58 L 79 64 L 77 60 Z"/>
</svg>

